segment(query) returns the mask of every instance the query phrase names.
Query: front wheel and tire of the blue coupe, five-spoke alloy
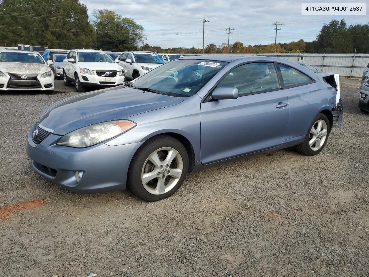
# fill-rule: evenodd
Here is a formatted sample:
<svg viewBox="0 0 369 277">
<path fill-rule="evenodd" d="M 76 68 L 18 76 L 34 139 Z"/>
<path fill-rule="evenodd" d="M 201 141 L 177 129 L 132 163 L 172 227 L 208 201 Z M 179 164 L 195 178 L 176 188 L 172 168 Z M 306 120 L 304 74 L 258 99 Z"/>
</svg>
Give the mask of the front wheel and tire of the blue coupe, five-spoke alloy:
<svg viewBox="0 0 369 277">
<path fill-rule="evenodd" d="M 156 159 L 151 158 L 155 157 L 155 153 Z M 170 157 L 173 157 L 170 164 L 163 163 Z M 132 158 L 128 169 L 128 188 L 144 201 L 167 198 L 182 185 L 188 166 L 189 158 L 182 143 L 166 135 L 154 137 L 142 144 Z M 143 180 L 145 174 L 147 182 Z"/>
</svg>

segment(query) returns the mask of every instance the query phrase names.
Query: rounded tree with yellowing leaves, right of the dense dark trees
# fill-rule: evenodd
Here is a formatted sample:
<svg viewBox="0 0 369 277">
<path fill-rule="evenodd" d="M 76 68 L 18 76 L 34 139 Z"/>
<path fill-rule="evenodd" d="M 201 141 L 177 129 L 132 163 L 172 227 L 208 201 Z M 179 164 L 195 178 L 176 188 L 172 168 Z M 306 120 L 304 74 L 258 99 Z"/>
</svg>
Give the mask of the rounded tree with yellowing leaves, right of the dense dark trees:
<svg viewBox="0 0 369 277">
<path fill-rule="evenodd" d="M 132 18 L 122 17 L 114 11 L 95 10 L 93 26 L 97 48 L 103 50 L 136 50 L 145 42 L 144 28 Z"/>
</svg>

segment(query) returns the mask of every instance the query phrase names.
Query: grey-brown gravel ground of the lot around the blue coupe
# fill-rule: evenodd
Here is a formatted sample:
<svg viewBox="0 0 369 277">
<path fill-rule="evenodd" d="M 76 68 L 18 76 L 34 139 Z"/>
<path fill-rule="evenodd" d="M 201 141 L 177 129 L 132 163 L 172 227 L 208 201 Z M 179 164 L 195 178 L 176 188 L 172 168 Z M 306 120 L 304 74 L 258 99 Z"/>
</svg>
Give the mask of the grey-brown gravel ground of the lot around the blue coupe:
<svg viewBox="0 0 369 277">
<path fill-rule="evenodd" d="M 73 92 L 0 95 L 0 276 L 369 276 L 369 114 L 341 80 L 344 121 L 315 157 L 276 151 L 188 175 L 163 201 L 77 195 L 32 171 L 37 115 Z M 69 90 L 68 90 L 69 91 Z"/>
</svg>

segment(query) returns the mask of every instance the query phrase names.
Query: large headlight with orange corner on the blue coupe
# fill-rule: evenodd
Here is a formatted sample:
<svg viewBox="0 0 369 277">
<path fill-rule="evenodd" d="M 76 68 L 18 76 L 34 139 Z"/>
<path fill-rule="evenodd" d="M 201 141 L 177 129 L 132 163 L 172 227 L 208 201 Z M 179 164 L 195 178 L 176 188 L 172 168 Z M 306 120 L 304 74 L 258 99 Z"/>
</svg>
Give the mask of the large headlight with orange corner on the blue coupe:
<svg viewBox="0 0 369 277">
<path fill-rule="evenodd" d="M 122 134 L 136 125 L 136 123 L 129 120 L 115 120 L 93 124 L 64 135 L 56 144 L 76 148 L 93 146 Z"/>
</svg>

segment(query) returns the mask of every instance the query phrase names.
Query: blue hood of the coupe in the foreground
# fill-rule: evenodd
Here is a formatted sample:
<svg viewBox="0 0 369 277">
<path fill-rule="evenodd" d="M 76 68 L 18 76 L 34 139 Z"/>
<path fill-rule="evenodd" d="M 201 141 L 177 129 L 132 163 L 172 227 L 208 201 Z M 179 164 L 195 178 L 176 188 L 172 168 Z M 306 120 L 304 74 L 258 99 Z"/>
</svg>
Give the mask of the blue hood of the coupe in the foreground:
<svg viewBox="0 0 369 277">
<path fill-rule="evenodd" d="M 41 113 L 38 122 L 54 134 L 64 135 L 91 124 L 176 105 L 184 99 L 118 86 L 56 102 Z"/>
</svg>

